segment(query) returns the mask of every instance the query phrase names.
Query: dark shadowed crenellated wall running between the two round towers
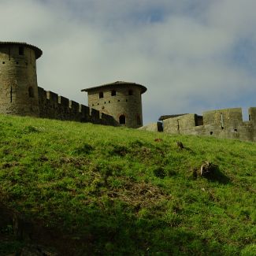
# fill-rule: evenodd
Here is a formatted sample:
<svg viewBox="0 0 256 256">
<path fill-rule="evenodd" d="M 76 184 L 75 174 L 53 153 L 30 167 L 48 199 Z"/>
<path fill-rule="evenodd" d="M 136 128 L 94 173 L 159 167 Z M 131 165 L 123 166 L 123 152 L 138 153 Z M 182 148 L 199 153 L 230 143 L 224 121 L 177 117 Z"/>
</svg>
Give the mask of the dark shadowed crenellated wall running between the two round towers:
<svg viewBox="0 0 256 256">
<path fill-rule="evenodd" d="M 113 117 L 38 87 L 39 117 L 117 126 Z"/>
</svg>

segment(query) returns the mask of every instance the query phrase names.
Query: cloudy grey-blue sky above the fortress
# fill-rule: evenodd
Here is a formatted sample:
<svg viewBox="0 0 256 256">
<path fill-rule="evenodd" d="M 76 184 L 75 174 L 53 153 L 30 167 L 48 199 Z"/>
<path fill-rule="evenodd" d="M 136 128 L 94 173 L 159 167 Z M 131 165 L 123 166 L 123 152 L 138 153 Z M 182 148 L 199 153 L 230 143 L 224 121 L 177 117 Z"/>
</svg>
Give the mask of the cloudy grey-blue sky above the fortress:
<svg viewBox="0 0 256 256">
<path fill-rule="evenodd" d="M 40 87 L 140 83 L 144 124 L 164 114 L 256 106 L 255 0 L 0 0 L 1 41 L 43 50 Z"/>
</svg>

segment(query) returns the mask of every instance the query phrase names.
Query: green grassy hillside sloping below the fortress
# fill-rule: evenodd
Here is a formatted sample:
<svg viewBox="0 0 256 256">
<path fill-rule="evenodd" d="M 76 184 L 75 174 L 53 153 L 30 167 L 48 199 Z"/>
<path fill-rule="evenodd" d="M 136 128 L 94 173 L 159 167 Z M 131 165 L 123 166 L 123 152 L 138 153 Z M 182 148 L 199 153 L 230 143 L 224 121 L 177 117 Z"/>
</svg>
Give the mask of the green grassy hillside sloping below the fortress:
<svg viewBox="0 0 256 256">
<path fill-rule="evenodd" d="M 255 143 L 1 115 L 0 255 L 255 255 L 255 170 Z"/>
</svg>

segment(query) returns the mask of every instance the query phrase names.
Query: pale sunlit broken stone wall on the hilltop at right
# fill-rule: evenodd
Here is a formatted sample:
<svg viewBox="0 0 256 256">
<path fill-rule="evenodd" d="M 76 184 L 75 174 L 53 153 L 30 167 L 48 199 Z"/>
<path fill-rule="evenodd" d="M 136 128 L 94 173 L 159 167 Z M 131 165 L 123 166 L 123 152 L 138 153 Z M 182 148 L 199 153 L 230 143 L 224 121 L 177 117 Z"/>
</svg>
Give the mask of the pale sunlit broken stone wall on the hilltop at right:
<svg viewBox="0 0 256 256">
<path fill-rule="evenodd" d="M 163 121 L 164 132 L 256 141 L 256 108 L 248 112 L 249 121 L 243 121 L 241 108 L 207 111 L 202 115 L 202 125 L 196 125 L 200 122 L 195 114 L 169 118 Z"/>
</svg>

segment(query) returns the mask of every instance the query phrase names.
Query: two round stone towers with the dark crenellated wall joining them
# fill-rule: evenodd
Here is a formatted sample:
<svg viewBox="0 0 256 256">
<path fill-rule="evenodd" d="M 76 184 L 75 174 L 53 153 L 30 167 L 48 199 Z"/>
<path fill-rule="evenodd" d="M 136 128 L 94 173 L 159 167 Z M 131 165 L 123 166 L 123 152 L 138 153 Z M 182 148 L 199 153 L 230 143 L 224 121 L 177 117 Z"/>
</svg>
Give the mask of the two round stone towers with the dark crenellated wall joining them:
<svg viewBox="0 0 256 256">
<path fill-rule="evenodd" d="M 117 81 L 82 90 L 88 91 L 89 104 L 91 91 L 97 91 L 92 93 L 95 99 L 89 106 L 94 109 L 90 109 L 38 87 L 36 60 L 42 54 L 28 43 L 0 42 L 0 113 L 132 128 L 142 125 L 141 94 L 146 87 Z"/>
</svg>

